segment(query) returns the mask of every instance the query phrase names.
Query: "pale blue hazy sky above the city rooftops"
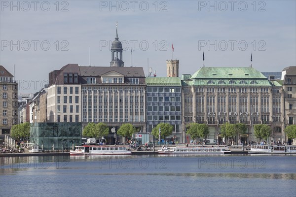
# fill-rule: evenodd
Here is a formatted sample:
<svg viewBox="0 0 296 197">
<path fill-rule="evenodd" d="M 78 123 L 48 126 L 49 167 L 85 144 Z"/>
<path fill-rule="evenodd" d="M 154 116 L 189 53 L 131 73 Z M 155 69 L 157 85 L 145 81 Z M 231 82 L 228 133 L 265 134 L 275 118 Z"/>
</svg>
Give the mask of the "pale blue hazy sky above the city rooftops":
<svg viewBox="0 0 296 197">
<path fill-rule="evenodd" d="M 67 64 L 110 66 L 116 24 L 124 66 L 146 76 L 166 76 L 171 59 L 180 76 L 203 64 L 296 66 L 295 0 L 0 0 L 0 65 L 19 94 L 38 92 Z"/>
</svg>

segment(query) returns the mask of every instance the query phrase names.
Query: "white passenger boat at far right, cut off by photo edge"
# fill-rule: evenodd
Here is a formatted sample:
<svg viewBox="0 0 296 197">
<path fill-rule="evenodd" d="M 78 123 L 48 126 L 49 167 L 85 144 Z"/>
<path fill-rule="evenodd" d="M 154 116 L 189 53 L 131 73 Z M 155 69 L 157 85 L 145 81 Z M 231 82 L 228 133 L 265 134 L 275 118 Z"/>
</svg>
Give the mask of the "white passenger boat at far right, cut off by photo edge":
<svg viewBox="0 0 296 197">
<path fill-rule="evenodd" d="M 277 145 L 251 145 L 248 153 L 259 154 L 296 154 L 296 146 L 277 146 Z"/>
</svg>

